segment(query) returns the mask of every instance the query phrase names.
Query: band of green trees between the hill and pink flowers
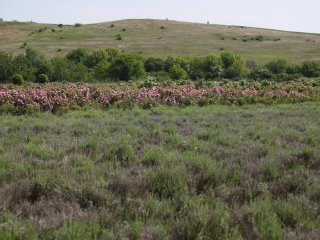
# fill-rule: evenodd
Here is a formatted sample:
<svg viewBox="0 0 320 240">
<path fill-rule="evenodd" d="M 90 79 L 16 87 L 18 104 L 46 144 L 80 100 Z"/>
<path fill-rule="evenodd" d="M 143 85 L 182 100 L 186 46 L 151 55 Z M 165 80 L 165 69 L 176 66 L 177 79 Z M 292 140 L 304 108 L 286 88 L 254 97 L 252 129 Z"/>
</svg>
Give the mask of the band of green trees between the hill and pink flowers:
<svg viewBox="0 0 320 240">
<path fill-rule="evenodd" d="M 33 48 L 26 48 L 25 53 L 19 55 L 0 51 L 0 83 L 128 81 L 146 75 L 164 80 L 247 78 L 286 81 L 320 77 L 320 63 L 308 60 L 293 65 L 284 59 L 276 59 L 258 66 L 231 52 L 205 57 L 143 58 L 115 48 L 78 48 L 64 57 L 49 59 Z"/>
</svg>

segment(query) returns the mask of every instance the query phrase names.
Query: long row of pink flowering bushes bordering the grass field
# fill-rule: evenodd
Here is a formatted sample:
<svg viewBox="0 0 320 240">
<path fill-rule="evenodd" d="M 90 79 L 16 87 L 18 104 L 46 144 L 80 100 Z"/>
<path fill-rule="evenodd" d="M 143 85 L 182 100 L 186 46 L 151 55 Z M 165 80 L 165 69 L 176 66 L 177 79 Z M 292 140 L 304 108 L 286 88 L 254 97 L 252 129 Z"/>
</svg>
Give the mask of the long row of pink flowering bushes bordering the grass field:
<svg viewBox="0 0 320 240">
<path fill-rule="evenodd" d="M 316 88 L 237 89 L 226 86 L 195 86 L 192 84 L 139 88 L 135 85 L 110 86 L 97 84 L 47 84 L 24 87 L 0 86 L 0 112 L 24 114 L 33 111 L 53 113 L 86 107 L 150 108 L 165 105 L 296 103 L 320 100 Z"/>
</svg>

